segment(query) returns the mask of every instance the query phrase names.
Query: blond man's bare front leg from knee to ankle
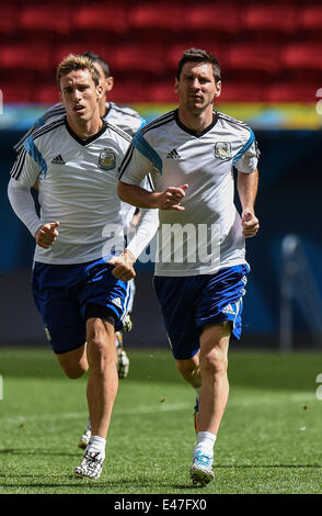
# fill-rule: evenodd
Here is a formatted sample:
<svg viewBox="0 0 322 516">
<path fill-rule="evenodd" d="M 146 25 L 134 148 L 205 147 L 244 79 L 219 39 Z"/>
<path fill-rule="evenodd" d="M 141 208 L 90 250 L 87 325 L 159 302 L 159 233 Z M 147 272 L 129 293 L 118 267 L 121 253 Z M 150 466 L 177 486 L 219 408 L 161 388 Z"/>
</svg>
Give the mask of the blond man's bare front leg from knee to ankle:
<svg viewBox="0 0 322 516">
<path fill-rule="evenodd" d="M 118 388 L 114 326 L 97 317 L 89 318 L 87 343 L 90 368 L 88 403 L 92 435 L 105 439 Z"/>
</svg>

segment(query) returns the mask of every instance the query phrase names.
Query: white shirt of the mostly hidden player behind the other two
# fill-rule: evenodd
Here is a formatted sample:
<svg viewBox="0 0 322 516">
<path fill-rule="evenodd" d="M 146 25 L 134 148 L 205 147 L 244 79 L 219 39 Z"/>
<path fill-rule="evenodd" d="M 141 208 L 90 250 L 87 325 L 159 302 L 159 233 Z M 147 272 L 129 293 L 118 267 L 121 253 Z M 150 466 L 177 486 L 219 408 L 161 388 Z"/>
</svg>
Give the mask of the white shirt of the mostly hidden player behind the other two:
<svg viewBox="0 0 322 516">
<path fill-rule="evenodd" d="M 106 102 L 105 105 L 106 114 L 103 116 L 103 120 L 106 120 L 108 124 L 116 125 L 116 127 L 122 128 L 129 136 L 133 136 L 146 123 L 145 119 L 142 119 L 137 111 L 128 108 L 127 105 L 119 105 L 115 102 Z M 61 119 L 64 115 L 66 115 L 66 109 L 60 102 L 48 108 L 43 116 L 36 120 L 28 132 L 18 142 L 18 144 L 15 144 L 14 149 L 20 153 L 23 148 L 24 142 L 31 134 L 39 127 L 43 127 L 45 124 Z"/>
</svg>

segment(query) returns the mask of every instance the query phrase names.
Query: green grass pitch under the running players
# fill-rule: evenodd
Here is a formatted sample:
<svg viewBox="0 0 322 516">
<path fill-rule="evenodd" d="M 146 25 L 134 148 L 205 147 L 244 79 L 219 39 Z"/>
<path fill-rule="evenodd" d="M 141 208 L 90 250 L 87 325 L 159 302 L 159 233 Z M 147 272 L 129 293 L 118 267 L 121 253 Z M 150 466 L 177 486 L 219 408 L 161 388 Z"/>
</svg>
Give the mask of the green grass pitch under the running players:
<svg viewBox="0 0 322 516">
<path fill-rule="evenodd" d="M 322 354 L 230 351 L 230 399 L 215 481 L 191 485 L 194 392 L 168 350 L 133 350 L 119 382 L 100 480 L 72 471 L 87 424 L 87 378 L 48 349 L 0 349 L 0 494 L 314 494 L 322 492 Z"/>
</svg>

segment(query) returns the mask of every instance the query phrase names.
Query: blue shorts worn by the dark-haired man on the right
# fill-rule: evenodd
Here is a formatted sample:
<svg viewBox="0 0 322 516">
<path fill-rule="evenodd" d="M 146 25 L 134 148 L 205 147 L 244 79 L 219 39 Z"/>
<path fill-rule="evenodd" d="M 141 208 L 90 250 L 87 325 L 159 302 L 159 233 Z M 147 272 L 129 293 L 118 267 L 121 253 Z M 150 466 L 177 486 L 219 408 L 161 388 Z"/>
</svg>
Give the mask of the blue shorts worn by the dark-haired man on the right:
<svg viewBox="0 0 322 516">
<path fill-rule="evenodd" d="M 192 358 L 200 347 L 203 326 L 230 321 L 232 337 L 241 336 L 242 296 L 248 265 L 215 274 L 153 278 L 169 341 L 175 359 Z"/>
</svg>

